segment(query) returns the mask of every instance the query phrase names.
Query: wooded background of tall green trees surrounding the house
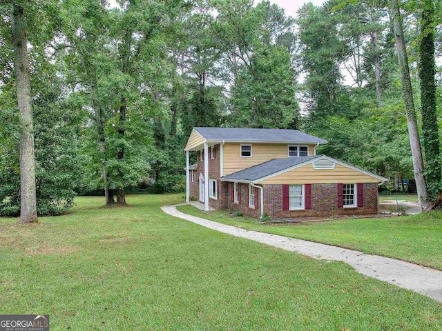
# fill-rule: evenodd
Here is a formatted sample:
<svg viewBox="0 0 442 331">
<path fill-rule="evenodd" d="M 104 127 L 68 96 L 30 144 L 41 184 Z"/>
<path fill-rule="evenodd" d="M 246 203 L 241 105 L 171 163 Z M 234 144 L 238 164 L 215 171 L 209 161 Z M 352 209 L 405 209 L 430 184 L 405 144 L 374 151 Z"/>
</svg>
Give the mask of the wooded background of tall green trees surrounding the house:
<svg viewBox="0 0 442 331">
<path fill-rule="evenodd" d="M 0 4 L 0 216 L 17 216 L 23 195 L 23 44 L 39 215 L 64 212 L 75 194 L 105 190 L 106 203 L 124 205 L 139 188 L 184 191 L 183 148 L 194 126 L 303 130 L 329 141 L 318 153 L 398 189 L 414 169 L 395 3 L 423 175 L 436 201 L 440 1 L 329 0 L 293 18 L 268 1 L 126 0 L 111 9 L 104 0 L 17 0 Z M 12 33 L 19 19 L 25 39 Z"/>
</svg>

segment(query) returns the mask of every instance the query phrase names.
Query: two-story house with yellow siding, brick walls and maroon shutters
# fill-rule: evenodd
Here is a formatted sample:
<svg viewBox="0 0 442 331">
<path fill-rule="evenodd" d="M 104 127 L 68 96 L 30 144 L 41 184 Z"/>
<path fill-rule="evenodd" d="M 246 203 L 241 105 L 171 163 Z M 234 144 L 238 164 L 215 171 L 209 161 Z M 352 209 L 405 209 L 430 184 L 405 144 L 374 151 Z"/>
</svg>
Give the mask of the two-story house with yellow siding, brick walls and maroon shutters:
<svg viewBox="0 0 442 331">
<path fill-rule="evenodd" d="M 387 179 L 317 155 L 322 143 L 298 130 L 193 128 L 185 148 L 186 201 L 252 217 L 377 214 L 378 185 Z"/>
</svg>

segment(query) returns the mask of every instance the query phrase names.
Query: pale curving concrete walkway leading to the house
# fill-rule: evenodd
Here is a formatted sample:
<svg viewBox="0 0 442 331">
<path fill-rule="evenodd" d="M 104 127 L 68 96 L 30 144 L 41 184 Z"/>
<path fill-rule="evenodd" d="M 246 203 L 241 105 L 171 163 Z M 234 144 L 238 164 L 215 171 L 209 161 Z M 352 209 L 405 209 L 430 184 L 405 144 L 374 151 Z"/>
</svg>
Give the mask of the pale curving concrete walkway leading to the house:
<svg viewBox="0 0 442 331">
<path fill-rule="evenodd" d="M 179 212 L 175 205 L 165 205 L 161 209 L 174 217 L 211 228 L 216 231 L 242 237 L 258 243 L 265 243 L 282 250 L 297 252 L 314 259 L 343 261 L 352 265 L 358 272 L 369 277 L 387 281 L 401 288 L 407 288 L 425 294 L 442 302 L 442 271 L 425 268 L 388 257 L 369 255 L 356 250 L 347 250 L 336 246 L 294 239 L 276 234 L 244 230 Z"/>
</svg>

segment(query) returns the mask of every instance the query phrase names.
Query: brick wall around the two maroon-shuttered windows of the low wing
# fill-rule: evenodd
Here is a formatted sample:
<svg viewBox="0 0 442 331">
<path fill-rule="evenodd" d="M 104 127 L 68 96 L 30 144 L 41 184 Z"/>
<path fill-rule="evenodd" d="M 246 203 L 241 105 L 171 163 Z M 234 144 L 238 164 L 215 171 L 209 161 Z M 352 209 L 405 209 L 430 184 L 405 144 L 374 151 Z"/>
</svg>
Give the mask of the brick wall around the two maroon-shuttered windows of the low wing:
<svg viewBox="0 0 442 331">
<path fill-rule="evenodd" d="M 363 207 L 338 208 L 337 184 L 311 184 L 311 209 L 282 210 L 282 185 L 264 186 L 264 211 L 271 217 L 330 217 L 334 215 L 365 215 L 378 213 L 378 185 L 364 183 Z"/>
</svg>

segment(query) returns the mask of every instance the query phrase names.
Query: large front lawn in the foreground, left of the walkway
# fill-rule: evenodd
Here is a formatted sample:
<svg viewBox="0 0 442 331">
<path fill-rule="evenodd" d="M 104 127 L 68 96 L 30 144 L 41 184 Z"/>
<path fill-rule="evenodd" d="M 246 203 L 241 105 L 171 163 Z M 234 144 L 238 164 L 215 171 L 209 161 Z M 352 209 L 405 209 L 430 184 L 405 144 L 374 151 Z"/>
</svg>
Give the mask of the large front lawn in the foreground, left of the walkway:
<svg viewBox="0 0 442 331">
<path fill-rule="evenodd" d="M 0 314 L 50 314 L 51 330 L 442 329 L 432 299 L 161 212 L 180 201 L 0 219 Z"/>
</svg>

